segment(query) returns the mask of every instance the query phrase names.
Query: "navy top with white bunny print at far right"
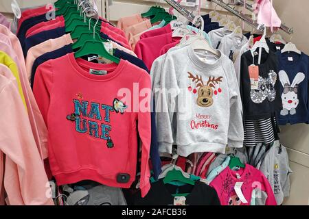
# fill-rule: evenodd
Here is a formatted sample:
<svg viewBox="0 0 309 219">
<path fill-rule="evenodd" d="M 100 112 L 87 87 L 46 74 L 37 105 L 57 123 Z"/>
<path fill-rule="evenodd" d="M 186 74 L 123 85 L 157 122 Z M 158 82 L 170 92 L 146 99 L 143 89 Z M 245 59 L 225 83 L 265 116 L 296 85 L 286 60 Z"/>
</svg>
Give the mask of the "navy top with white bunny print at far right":
<svg viewBox="0 0 309 219">
<path fill-rule="evenodd" d="M 283 110 L 278 112 L 279 125 L 307 123 L 309 117 L 309 57 L 295 52 L 277 52 L 280 93 Z"/>
</svg>

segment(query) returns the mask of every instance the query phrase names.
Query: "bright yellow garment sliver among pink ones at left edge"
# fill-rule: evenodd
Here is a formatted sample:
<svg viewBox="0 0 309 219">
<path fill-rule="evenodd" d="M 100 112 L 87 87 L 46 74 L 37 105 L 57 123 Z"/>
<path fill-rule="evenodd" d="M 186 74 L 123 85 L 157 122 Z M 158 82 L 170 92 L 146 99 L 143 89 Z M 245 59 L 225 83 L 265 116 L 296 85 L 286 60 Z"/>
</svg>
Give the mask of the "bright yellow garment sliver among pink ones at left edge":
<svg viewBox="0 0 309 219">
<path fill-rule="evenodd" d="M 19 68 L 17 64 L 12 60 L 12 58 L 5 52 L 0 51 L 0 63 L 8 66 L 12 71 L 14 77 L 16 77 L 17 85 L 19 86 L 19 95 L 21 96 L 21 100 L 23 101 L 23 105 L 25 105 L 25 109 L 27 110 L 27 105 L 25 103 L 25 96 L 23 96 L 23 89 L 21 88 L 21 79 L 19 79 Z"/>
</svg>

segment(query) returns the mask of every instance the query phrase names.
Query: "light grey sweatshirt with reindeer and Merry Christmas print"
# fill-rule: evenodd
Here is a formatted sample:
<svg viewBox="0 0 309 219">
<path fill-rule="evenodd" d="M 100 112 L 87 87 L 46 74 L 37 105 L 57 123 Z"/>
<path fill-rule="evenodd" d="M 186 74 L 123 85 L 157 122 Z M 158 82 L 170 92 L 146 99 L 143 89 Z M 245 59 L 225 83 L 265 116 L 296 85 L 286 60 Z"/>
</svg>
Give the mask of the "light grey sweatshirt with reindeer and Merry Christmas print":
<svg viewBox="0 0 309 219">
<path fill-rule="evenodd" d="M 171 153 L 173 142 L 184 157 L 196 152 L 225 153 L 227 144 L 242 147 L 242 104 L 233 63 L 227 56 L 221 54 L 211 61 L 207 55 L 205 62 L 191 46 L 171 51 L 161 68 L 161 88 L 165 93 L 156 103 L 165 110 L 157 114 L 161 153 Z"/>
</svg>

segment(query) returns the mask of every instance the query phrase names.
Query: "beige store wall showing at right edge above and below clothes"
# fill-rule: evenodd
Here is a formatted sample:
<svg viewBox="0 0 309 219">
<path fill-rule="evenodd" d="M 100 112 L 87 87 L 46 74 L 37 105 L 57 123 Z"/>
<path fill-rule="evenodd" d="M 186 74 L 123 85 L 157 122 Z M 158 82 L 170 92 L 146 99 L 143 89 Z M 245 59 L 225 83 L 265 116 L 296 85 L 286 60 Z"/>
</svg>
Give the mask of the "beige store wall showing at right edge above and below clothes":
<svg viewBox="0 0 309 219">
<path fill-rule="evenodd" d="M 309 1 L 273 0 L 273 3 L 282 22 L 294 28 L 292 42 L 309 54 Z M 282 35 L 290 40 L 290 36 Z M 309 125 L 282 127 L 280 137 L 282 144 L 288 147 L 293 170 L 290 198 L 286 198 L 284 205 L 309 205 Z"/>
</svg>

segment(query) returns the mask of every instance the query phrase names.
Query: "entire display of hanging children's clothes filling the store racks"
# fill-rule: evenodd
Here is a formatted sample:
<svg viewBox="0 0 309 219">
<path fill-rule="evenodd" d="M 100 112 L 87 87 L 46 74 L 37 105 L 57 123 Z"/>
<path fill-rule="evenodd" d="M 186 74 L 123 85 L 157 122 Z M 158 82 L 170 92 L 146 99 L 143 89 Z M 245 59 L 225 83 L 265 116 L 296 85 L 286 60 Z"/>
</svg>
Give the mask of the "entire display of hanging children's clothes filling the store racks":
<svg viewBox="0 0 309 219">
<path fill-rule="evenodd" d="M 308 123 L 308 55 L 218 12 L 195 27 L 152 6 L 115 26 L 73 0 L 55 7 L 50 21 L 23 10 L 16 36 L 0 25 L 2 203 L 283 203 L 292 170 L 277 133 Z M 152 90 L 146 112 L 118 96 L 134 83 Z"/>
</svg>

